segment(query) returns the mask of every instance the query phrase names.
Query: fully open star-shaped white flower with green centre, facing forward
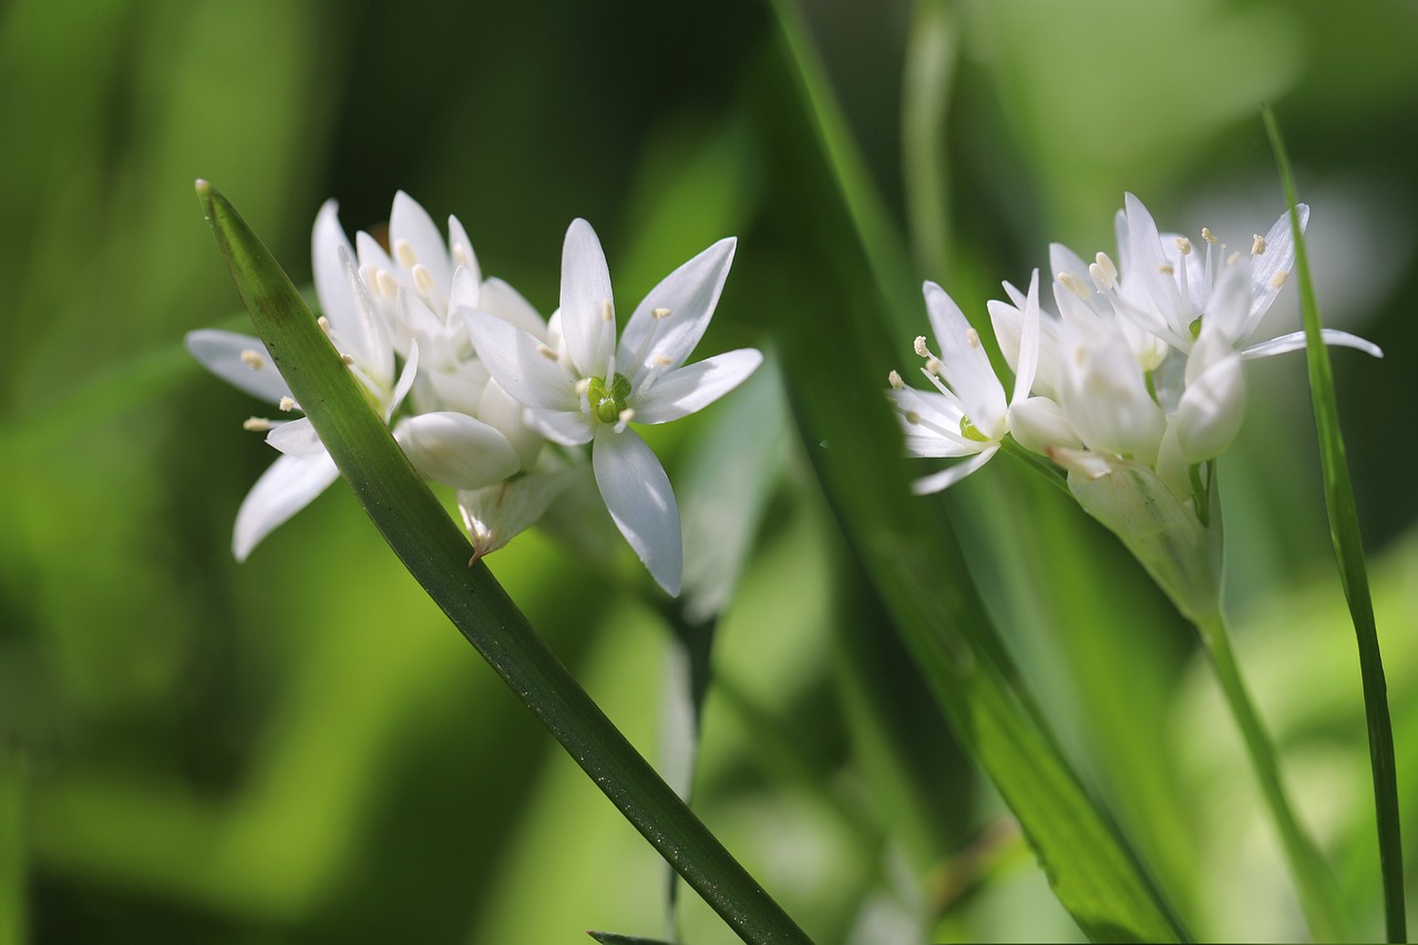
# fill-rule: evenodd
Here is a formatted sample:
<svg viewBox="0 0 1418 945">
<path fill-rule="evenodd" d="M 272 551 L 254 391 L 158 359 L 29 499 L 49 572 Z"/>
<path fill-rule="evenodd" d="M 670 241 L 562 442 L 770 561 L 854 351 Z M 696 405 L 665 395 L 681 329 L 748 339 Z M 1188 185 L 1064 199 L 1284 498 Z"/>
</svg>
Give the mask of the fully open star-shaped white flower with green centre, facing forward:
<svg viewBox="0 0 1418 945">
<path fill-rule="evenodd" d="M 679 509 L 654 451 L 628 427 L 695 413 L 739 386 L 763 360 L 753 349 L 685 366 L 709 326 L 733 262 L 720 240 L 671 272 L 635 308 L 617 342 L 610 271 L 596 231 L 576 220 L 562 251 L 556 350 L 485 312 L 468 319 L 478 356 L 549 438 L 591 444 L 601 498 L 617 528 L 668 593 L 679 593 Z"/>
</svg>

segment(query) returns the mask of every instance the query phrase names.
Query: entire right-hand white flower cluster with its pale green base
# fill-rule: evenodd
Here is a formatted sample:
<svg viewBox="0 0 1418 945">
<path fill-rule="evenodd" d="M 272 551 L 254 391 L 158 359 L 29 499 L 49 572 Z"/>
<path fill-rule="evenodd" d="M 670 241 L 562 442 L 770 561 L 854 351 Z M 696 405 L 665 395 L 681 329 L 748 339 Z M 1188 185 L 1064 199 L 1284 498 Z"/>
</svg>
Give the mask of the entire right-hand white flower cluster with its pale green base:
<svg viewBox="0 0 1418 945">
<path fill-rule="evenodd" d="M 1302 227 L 1309 209 L 1299 207 Z M 1193 620 L 1217 607 L 1208 534 L 1214 460 L 1245 416 L 1242 363 L 1296 350 L 1305 333 L 1255 341 L 1295 265 L 1289 216 L 1238 248 L 1202 228 L 1198 240 L 1160 233 L 1133 194 L 1116 216 L 1117 258 L 1085 261 L 1049 247 L 1054 308 L 1005 282 L 988 304 L 1014 386 L 1005 400 L 976 329 L 934 282 L 926 312 L 936 349 L 920 336 L 925 390 L 891 373 L 892 400 L 916 457 L 961 463 L 915 482 L 934 492 L 1022 447 L 1068 475 L 1069 491 L 1102 521 Z M 1326 329 L 1330 345 L 1380 349 Z"/>
</svg>

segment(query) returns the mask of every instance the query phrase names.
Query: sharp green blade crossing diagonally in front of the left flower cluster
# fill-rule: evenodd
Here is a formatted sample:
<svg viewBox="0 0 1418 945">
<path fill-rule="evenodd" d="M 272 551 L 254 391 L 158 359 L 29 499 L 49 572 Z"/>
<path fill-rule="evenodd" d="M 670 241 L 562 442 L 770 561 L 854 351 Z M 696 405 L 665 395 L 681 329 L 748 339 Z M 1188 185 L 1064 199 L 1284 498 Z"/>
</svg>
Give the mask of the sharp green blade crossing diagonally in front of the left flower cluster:
<svg viewBox="0 0 1418 945">
<path fill-rule="evenodd" d="M 723 849 L 547 648 L 408 464 L 285 272 L 197 183 L 251 319 L 364 511 L 410 573 L 620 812 L 747 942 L 807 936 Z"/>
</svg>

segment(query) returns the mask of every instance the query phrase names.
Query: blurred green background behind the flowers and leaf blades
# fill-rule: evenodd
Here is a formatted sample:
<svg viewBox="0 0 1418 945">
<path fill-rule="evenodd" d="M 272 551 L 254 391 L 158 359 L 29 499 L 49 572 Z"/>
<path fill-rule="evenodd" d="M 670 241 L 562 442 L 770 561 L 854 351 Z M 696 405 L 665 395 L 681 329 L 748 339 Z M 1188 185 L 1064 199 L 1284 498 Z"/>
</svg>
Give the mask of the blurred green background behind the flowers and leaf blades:
<svg viewBox="0 0 1418 945">
<path fill-rule="evenodd" d="M 838 166 L 861 172 L 845 190 L 784 11 L 845 116 Z M 194 328 L 244 329 L 199 176 L 298 284 L 322 200 L 353 233 L 404 189 L 457 214 L 484 271 L 543 312 L 573 217 L 600 233 L 623 305 L 737 234 L 703 353 L 835 332 L 831 302 L 786 309 L 839 292 L 844 309 L 878 305 L 879 331 L 844 333 L 820 383 L 876 383 L 912 363 L 922 278 L 983 314 L 1000 280 L 1046 265 L 1051 240 L 1112 251 L 1124 190 L 1164 228 L 1263 233 L 1282 210 L 1258 111 L 1273 102 L 1327 324 L 1387 355 L 1336 352 L 1334 368 L 1415 836 L 1414 48 L 1418 6 L 1400 0 L 9 0 L 0 941 L 664 935 L 654 851 L 342 487 L 233 562 L 235 509 L 274 453 L 240 429 L 262 407 L 180 346 Z M 818 268 L 786 262 L 804 254 L 794 240 L 824 248 Z M 1272 333 L 1297 326 L 1282 299 Z M 1303 360 L 1249 379 L 1222 463 L 1242 665 L 1353 918 L 1377 935 L 1357 667 Z M 698 809 L 821 942 L 1076 939 L 822 499 L 822 447 L 787 410 L 811 377 L 735 396 L 747 406 L 730 416 L 781 447 L 756 472 L 767 505 L 719 624 Z M 682 501 L 733 403 L 655 440 Z M 1191 636 L 1143 572 L 1005 463 L 942 501 L 1051 722 L 1194 931 L 1303 934 Z M 649 582 L 537 532 L 489 563 L 659 756 L 669 636 Z M 683 941 L 729 938 L 686 902 Z"/>
</svg>

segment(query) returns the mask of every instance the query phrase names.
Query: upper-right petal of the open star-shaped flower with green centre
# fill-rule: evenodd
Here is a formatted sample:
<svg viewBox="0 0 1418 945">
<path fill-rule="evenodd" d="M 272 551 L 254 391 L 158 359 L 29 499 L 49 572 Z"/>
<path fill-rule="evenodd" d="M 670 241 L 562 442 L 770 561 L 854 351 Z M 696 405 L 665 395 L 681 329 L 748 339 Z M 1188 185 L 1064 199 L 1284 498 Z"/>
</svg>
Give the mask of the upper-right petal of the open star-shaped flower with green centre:
<svg viewBox="0 0 1418 945">
<path fill-rule="evenodd" d="M 661 359 L 668 360 L 671 368 L 688 360 L 713 318 L 737 244 L 733 237 L 719 240 L 645 295 L 621 335 L 621 365 L 630 369 L 624 373 L 638 373 L 645 363 Z M 655 309 L 665 309 L 669 315 L 657 319 Z M 634 359 L 634 363 L 627 359 Z"/>
</svg>

